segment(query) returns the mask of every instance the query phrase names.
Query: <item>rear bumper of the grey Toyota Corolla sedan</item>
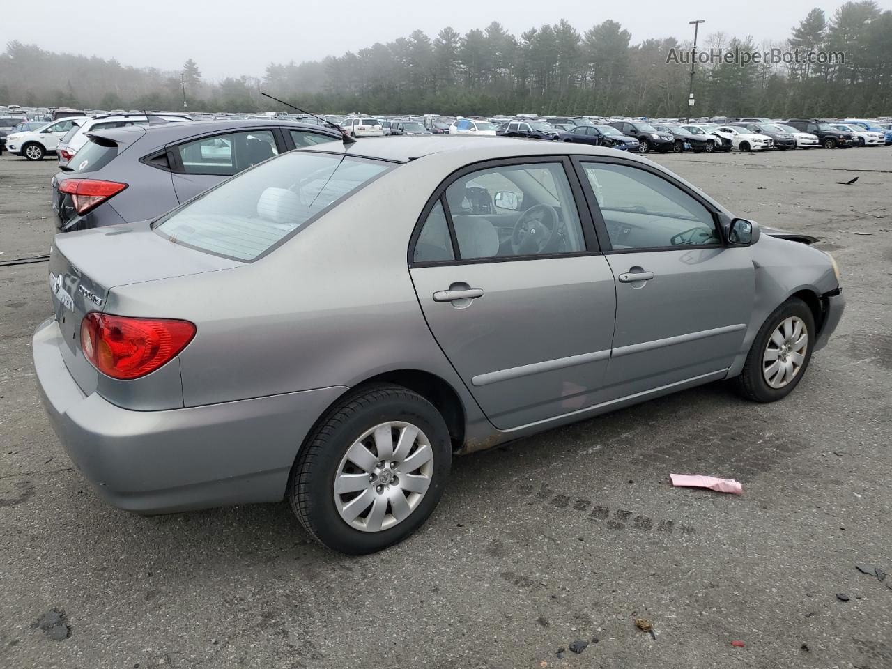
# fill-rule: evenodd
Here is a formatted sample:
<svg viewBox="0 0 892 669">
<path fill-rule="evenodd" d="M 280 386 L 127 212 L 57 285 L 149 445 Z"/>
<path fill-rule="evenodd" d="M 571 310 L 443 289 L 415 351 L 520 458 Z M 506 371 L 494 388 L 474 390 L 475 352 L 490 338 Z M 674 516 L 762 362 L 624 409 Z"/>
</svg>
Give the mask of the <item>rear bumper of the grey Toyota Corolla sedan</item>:
<svg viewBox="0 0 892 669">
<path fill-rule="evenodd" d="M 112 505 L 139 513 L 281 500 L 297 450 L 336 386 L 165 411 L 121 409 L 75 384 L 54 319 L 37 327 L 34 367 L 55 434 Z"/>
</svg>

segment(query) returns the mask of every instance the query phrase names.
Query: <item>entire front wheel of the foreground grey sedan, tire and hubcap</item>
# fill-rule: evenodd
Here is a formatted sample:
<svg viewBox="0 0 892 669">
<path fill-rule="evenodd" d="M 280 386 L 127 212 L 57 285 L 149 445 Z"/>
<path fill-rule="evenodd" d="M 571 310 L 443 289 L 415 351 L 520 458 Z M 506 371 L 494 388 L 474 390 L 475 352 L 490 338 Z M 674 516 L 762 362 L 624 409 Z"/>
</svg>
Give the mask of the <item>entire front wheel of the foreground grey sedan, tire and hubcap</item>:
<svg viewBox="0 0 892 669">
<path fill-rule="evenodd" d="M 812 310 L 804 301 L 790 298 L 781 304 L 759 329 L 735 379 L 740 394 L 757 402 L 789 395 L 808 368 L 816 334 Z"/>
</svg>

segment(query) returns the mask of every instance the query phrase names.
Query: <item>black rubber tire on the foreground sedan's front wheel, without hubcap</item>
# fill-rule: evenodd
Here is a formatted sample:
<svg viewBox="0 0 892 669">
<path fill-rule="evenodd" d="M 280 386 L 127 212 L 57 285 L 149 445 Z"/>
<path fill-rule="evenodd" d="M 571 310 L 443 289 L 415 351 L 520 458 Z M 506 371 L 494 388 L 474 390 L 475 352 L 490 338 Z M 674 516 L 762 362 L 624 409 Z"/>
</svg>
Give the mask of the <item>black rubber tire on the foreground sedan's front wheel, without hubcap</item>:
<svg viewBox="0 0 892 669">
<path fill-rule="evenodd" d="M 807 343 L 805 344 L 805 361 L 799 368 L 796 376 L 793 376 L 788 384 L 781 388 L 772 388 L 765 381 L 762 373 L 763 357 L 775 328 L 784 319 L 791 316 L 801 318 L 805 323 L 808 335 Z M 740 376 L 734 379 L 737 391 L 747 400 L 756 402 L 773 402 L 785 398 L 790 392 L 793 392 L 793 389 L 796 388 L 802 377 L 805 376 L 808 363 L 812 359 L 812 347 L 816 337 L 817 331 L 814 327 L 814 315 L 812 310 L 808 308 L 808 305 L 797 297 L 791 297 L 788 301 L 785 301 L 780 307 L 772 311 L 772 315 L 766 318 L 762 327 L 759 328 L 756 339 L 749 348 L 743 371 L 740 373 Z"/>
</svg>

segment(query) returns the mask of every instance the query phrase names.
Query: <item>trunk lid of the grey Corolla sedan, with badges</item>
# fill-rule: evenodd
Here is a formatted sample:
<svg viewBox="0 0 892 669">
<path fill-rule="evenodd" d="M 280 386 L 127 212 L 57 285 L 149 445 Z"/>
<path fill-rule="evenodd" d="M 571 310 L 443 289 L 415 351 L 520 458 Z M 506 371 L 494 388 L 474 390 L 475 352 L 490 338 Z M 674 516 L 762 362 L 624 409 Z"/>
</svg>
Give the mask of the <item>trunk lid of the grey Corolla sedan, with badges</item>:
<svg viewBox="0 0 892 669">
<path fill-rule="evenodd" d="M 50 252 L 50 294 L 65 341 L 62 359 L 81 391 L 95 391 L 98 372 L 80 351 L 80 323 L 90 311 L 104 310 L 112 288 L 242 264 L 170 244 L 148 222 L 57 235 Z M 159 304 L 155 313 L 124 315 L 162 317 L 163 310 Z"/>
</svg>

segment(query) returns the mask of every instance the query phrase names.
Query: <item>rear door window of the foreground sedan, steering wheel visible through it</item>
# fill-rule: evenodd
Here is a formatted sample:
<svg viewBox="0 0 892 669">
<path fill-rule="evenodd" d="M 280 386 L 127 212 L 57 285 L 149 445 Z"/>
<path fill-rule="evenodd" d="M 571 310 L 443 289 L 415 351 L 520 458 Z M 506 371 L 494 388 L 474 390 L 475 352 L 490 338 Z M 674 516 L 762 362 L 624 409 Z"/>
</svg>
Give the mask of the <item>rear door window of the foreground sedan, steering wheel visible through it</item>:
<svg viewBox="0 0 892 669">
<path fill-rule="evenodd" d="M 445 196 L 462 260 L 585 251 L 560 163 L 480 169 L 452 182 Z"/>
</svg>

